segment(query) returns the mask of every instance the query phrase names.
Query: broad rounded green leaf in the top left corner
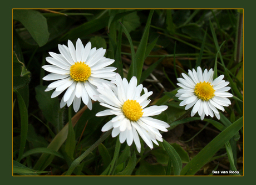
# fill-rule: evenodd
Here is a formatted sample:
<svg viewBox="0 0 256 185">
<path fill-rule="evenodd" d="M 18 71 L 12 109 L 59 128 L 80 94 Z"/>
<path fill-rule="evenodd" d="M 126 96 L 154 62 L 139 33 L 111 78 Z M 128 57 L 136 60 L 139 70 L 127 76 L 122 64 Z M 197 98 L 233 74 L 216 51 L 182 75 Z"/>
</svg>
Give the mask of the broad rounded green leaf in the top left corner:
<svg viewBox="0 0 256 185">
<path fill-rule="evenodd" d="M 14 9 L 13 19 L 24 25 L 40 47 L 47 43 L 49 38 L 47 21 L 40 12 L 32 9 Z"/>
</svg>

